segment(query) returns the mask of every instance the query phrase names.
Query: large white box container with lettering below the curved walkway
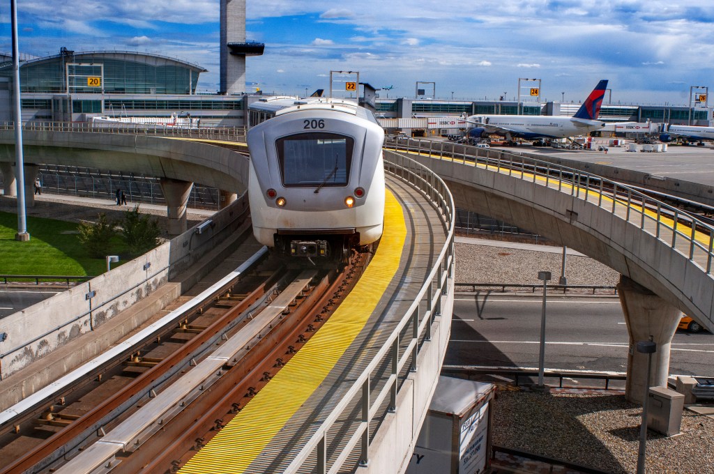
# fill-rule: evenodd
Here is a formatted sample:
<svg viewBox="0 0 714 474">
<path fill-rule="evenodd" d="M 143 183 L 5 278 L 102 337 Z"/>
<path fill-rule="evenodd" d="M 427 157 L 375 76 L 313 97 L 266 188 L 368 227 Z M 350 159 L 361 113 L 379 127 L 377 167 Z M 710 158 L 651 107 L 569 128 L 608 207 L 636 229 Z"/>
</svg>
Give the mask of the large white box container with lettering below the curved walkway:
<svg viewBox="0 0 714 474">
<path fill-rule="evenodd" d="M 406 474 L 479 474 L 490 466 L 493 383 L 439 377 Z"/>
</svg>

